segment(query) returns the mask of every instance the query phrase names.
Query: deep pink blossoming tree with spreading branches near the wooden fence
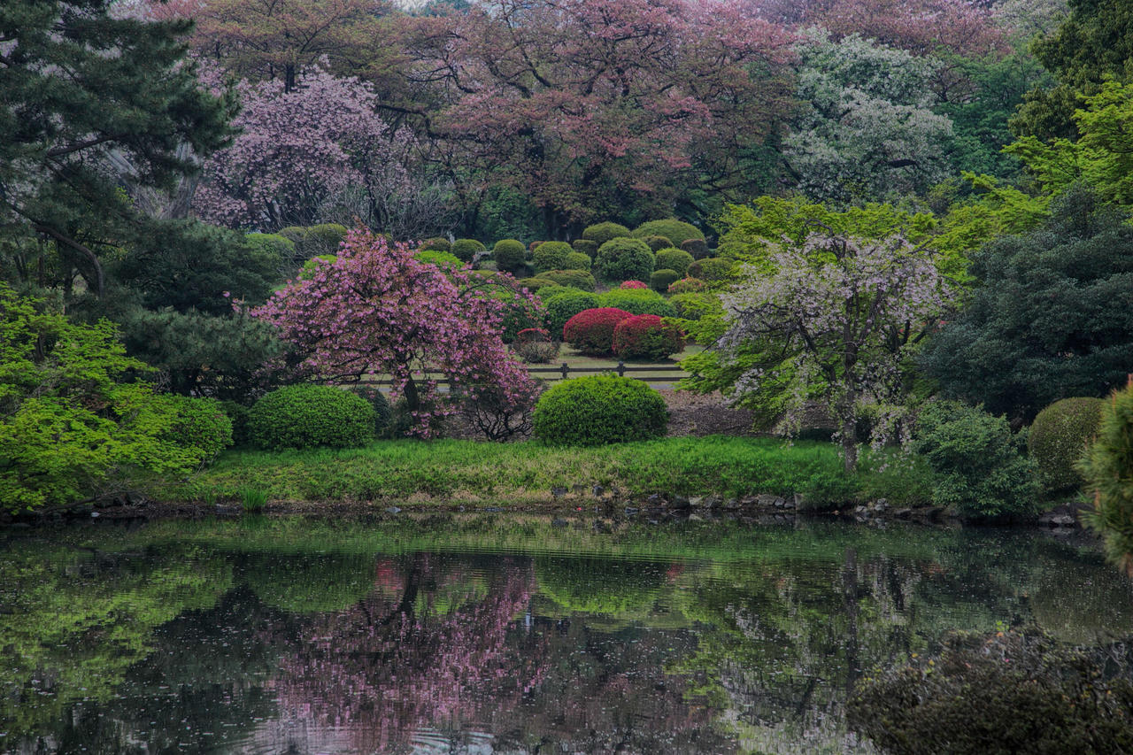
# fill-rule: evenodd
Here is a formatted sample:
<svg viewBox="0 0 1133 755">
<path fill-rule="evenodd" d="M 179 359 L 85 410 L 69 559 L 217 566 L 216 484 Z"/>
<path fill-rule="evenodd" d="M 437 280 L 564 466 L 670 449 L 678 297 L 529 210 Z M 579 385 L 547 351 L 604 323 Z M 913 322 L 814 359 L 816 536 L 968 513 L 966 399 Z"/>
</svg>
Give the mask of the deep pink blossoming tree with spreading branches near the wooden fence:
<svg viewBox="0 0 1133 755">
<path fill-rule="evenodd" d="M 323 379 L 389 375 L 404 397 L 423 438 L 461 401 L 484 400 L 499 410 L 530 406 L 535 389 L 500 338 L 504 289 L 536 306 L 505 274 L 485 279 L 470 270 L 442 270 L 389 245 L 368 230 L 351 231 L 332 262 L 290 281 L 257 317 L 306 355 L 304 366 Z M 449 393 L 427 374 L 443 374 Z"/>
</svg>

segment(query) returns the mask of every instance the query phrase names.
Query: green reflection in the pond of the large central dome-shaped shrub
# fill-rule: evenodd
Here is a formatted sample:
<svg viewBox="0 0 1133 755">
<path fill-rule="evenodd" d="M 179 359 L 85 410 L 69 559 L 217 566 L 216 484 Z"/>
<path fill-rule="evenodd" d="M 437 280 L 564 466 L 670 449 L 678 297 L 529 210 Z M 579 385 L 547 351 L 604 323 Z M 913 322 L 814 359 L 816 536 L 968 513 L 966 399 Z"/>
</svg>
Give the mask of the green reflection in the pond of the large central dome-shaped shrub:
<svg viewBox="0 0 1133 755">
<path fill-rule="evenodd" d="M 539 593 L 564 610 L 621 616 L 648 609 L 665 579 L 658 563 L 600 558 L 540 557 L 535 560 Z"/>
</svg>

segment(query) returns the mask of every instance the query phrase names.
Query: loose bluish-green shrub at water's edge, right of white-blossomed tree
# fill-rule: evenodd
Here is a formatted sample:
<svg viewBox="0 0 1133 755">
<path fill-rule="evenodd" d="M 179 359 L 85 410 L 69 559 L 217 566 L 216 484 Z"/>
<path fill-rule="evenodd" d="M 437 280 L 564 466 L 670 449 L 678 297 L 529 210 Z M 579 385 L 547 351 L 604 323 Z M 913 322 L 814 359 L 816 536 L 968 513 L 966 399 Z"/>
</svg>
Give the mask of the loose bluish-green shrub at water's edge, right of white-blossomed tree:
<svg viewBox="0 0 1133 755">
<path fill-rule="evenodd" d="M 935 473 L 932 500 L 968 517 L 1036 511 L 1038 469 L 1007 421 L 957 401 L 931 401 L 917 417 L 913 448 Z"/>
</svg>

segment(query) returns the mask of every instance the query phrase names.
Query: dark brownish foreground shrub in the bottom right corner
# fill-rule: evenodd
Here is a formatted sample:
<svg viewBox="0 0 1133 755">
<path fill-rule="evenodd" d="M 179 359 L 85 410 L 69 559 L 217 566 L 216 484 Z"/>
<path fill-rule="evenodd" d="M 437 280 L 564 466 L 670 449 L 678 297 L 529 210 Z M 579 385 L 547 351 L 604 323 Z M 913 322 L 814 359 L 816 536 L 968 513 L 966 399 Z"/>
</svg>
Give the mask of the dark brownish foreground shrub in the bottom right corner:
<svg viewBox="0 0 1133 755">
<path fill-rule="evenodd" d="M 931 664 L 867 678 L 846 719 L 894 753 L 1133 752 L 1130 669 L 1104 671 L 1046 637 L 959 635 Z"/>
</svg>

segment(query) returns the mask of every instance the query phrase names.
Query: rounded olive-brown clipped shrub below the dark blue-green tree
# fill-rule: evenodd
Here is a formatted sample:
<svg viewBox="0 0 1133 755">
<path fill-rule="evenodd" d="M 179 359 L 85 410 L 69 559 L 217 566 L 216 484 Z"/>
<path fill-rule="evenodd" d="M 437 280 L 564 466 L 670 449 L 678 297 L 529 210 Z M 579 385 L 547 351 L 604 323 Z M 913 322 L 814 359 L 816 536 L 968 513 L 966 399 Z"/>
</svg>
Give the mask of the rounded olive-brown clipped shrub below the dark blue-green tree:
<svg viewBox="0 0 1133 755">
<path fill-rule="evenodd" d="M 1039 465 L 1042 486 L 1051 493 L 1080 487 L 1084 482 L 1074 465 L 1098 434 L 1099 398 L 1068 398 L 1039 412 L 1026 434 L 1026 449 Z"/>
</svg>

